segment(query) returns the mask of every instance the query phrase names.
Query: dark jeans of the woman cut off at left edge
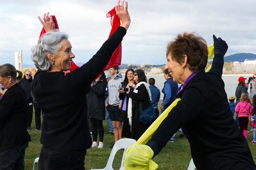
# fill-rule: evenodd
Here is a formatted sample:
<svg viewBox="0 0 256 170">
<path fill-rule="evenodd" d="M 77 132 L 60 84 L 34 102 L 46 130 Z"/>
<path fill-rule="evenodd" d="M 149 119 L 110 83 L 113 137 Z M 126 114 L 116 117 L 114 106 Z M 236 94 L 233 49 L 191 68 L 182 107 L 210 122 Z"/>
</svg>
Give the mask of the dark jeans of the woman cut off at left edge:
<svg viewBox="0 0 256 170">
<path fill-rule="evenodd" d="M 24 170 L 25 149 L 29 142 L 0 152 L 0 170 Z"/>
</svg>

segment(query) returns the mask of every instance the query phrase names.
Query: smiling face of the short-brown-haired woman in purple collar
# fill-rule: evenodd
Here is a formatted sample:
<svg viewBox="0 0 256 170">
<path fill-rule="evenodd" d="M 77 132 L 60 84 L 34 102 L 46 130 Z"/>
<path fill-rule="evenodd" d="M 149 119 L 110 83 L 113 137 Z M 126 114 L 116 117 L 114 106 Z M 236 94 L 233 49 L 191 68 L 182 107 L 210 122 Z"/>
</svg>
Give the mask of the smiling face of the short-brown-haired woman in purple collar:
<svg viewBox="0 0 256 170">
<path fill-rule="evenodd" d="M 182 84 L 184 82 L 184 69 L 182 69 L 182 65 L 178 62 L 173 61 L 171 54 L 167 56 L 167 63 L 165 65 L 165 70 L 168 70 L 169 74 L 171 74 L 173 81 Z"/>
</svg>

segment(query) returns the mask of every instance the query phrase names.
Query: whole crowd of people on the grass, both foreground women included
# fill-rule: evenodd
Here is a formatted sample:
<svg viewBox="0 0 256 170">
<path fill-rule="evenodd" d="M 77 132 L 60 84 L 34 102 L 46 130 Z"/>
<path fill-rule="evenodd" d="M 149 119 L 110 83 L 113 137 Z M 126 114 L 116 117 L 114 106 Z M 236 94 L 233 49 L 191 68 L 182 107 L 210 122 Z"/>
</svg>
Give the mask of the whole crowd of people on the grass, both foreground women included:
<svg viewBox="0 0 256 170">
<path fill-rule="evenodd" d="M 142 69 L 128 69 L 123 80 L 118 66 L 110 68 L 109 74 L 102 72 L 130 25 L 127 2 L 120 5 L 117 1 L 115 11 L 120 27 L 87 63 L 67 74 L 64 71 L 71 69 L 75 55 L 68 35 L 55 30 L 49 13 L 43 20 L 39 18 L 46 34 L 32 48 L 32 60 L 38 69 L 34 78 L 29 70 L 22 78 L 14 66 L 0 65 L 0 84 L 5 89 L 0 89 L 0 169 L 24 169 L 33 105 L 35 130 L 42 130 L 38 170 L 84 169 L 87 149 L 104 147 L 105 119 L 107 133 L 113 134 L 117 142 L 124 137 L 138 140 L 142 136 L 155 120 L 153 116 L 153 120 L 144 121 L 143 111 L 153 108 L 152 112 L 159 116 L 161 93 L 154 78 L 147 80 Z M 198 170 L 256 169 L 246 142 L 250 115 L 252 130 L 256 130 L 256 74 L 248 83 L 244 77 L 238 79 L 236 97 L 231 96 L 228 103 L 221 78 L 228 46 L 215 35 L 213 40 L 215 57 L 208 73 L 204 70 L 208 48 L 201 36 L 184 32 L 168 43 L 161 113 L 176 98 L 181 100 L 146 144 L 130 148 L 125 165 L 147 166 L 138 160 L 143 158 L 149 163 L 167 142 L 174 141 L 178 131 L 180 137 L 187 137 Z M 234 112 L 240 131 L 231 116 Z"/>
</svg>

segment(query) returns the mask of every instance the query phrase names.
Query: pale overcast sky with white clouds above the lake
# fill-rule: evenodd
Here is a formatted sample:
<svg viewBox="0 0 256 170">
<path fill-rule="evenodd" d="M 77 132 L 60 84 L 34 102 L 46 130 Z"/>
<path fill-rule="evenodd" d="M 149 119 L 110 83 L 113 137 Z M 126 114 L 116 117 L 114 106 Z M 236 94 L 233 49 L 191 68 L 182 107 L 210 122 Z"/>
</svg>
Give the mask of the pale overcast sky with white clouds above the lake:
<svg viewBox="0 0 256 170">
<path fill-rule="evenodd" d="M 38 42 L 46 12 L 55 15 L 69 35 L 75 63 L 87 62 L 108 38 L 106 13 L 116 0 L 0 0 L 0 64 L 33 65 L 31 47 Z M 166 45 L 178 33 L 197 32 L 211 45 L 212 34 L 226 40 L 226 55 L 256 54 L 256 0 L 128 0 L 131 25 L 125 35 L 122 63 L 166 62 Z"/>
</svg>

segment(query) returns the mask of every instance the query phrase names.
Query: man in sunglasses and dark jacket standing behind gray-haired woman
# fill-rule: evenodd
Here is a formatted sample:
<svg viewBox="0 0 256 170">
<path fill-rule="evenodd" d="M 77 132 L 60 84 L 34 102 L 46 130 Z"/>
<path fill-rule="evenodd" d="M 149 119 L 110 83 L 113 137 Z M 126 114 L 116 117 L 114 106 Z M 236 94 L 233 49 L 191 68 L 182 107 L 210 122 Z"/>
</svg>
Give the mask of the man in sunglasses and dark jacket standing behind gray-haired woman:
<svg viewBox="0 0 256 170">
<path fill-rule="evenodd" d="M 27 95 L 27 129 L 31 130 L 31 122 L 33 117 L 33 99 L 30 95 L 31 83 L 32 83 L 32 72 L 27 70 L 24 77 L 19 81 L 19 85 L 25 90 Z"/>
</svg>

